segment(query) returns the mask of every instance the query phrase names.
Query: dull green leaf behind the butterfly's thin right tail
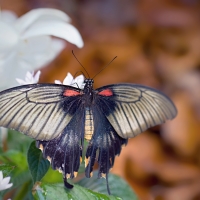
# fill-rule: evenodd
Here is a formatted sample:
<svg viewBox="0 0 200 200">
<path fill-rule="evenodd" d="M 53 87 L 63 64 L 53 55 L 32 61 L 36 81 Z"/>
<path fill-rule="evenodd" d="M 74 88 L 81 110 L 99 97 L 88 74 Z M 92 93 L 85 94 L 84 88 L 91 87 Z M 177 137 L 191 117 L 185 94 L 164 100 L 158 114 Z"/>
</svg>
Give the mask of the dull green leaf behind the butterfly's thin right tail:
<svg viewBox="0 0 200 200">
<path fill-rule="evenodd" d="M 95 171 L 93 177 L 83 178 L 78 182 L 78 184 L 93 191 L 108 194 L 106 180 L 97 177 L 97 171 Z M 137 200 L 137 196 L 133 192 L 132 188 L 121 177 L 110 173 L 108 175 L 108 184 L 112 195 L 126 200 Z"/>
</svg>

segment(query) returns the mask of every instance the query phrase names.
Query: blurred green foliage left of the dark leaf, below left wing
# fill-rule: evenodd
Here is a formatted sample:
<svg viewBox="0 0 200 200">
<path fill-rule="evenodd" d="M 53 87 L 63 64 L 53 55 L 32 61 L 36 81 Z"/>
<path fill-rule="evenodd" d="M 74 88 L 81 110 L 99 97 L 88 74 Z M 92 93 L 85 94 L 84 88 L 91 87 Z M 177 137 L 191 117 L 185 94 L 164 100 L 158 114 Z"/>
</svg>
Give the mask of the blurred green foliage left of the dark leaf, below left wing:
<svg viewBox="0 0 200 200">
<path fill-rule="evenodd" d="M 21 133 L 9 131 L 7 139 L 9 150 L 6 152 L 2 151 L 3 153 L 0 155 L 0 163 L 13 166 L 13 170 L 9 174 L 11 177 L 10 182 L 13 183 L 13 186 L 3 191 L 4 194 L 14 189 L 14 196 L 11 197 L 12 200 L 31 200 L 31 198 L 27 198 L 31 195 L 33 185 L 27 165 L 27 149 L 31 141 L 33 140 Z M 9 170 L 9 167 L 7 169 Z"/>
</svg>

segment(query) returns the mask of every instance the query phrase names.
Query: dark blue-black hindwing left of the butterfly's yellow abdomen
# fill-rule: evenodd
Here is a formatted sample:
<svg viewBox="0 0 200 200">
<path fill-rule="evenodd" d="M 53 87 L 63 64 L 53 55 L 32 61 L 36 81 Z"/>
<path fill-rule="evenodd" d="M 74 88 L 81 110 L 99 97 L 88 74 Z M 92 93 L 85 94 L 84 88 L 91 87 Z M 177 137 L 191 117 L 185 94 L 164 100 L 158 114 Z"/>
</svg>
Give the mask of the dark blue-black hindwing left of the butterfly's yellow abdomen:
<svg viewBox="0 0 200 200">
<path fill-rule="evenodd" d="M 81 106 L 59 138 L 36 143 L 52 168 L 63 174 L 65 184 L 66 179 L 76 177 L 82 160 L 84 119 L 84 108 Z"/>
</svg>

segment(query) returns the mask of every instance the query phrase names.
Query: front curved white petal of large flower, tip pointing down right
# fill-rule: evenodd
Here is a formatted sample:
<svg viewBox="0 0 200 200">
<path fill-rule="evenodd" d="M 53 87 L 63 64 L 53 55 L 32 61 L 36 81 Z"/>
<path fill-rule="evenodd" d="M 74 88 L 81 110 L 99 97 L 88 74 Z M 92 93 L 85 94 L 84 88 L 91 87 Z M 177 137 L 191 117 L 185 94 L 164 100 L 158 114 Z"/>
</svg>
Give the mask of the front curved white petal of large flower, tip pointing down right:
<svg viewBox="0 0 200 200">
<path fill-rule="evenodd" d="M 83 40 L 78 30 L 71 24 L 59 20 L 40 20 L 27 29 L 21 38 L 27 39 L 41 35 L 52 35 L 67 40 L 79 48 L 83 47 Z"/>
</svg>

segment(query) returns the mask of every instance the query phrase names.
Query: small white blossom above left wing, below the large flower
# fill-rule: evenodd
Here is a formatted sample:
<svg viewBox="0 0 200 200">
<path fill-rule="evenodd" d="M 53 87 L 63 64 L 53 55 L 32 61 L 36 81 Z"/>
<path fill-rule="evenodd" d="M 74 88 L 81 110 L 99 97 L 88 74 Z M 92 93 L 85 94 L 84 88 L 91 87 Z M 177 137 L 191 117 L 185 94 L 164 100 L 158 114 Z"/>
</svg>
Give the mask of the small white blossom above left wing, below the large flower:
<svg viewBox="0 0 200 200">
<path fill-rule="evenodd" d="M 26 84 L 34 84 L 34 83 L 38 83 L 39 78 L 40 78 L 40 74 L 41 71 L 38 71 L 35 75 L 34 72 L 26 72 L 26 77 L 25 77 L 25 81 L 19 78 L 16 78 L 16 81 L 20 84 L 20 85 L 26 85 Z"/>
</svg>

